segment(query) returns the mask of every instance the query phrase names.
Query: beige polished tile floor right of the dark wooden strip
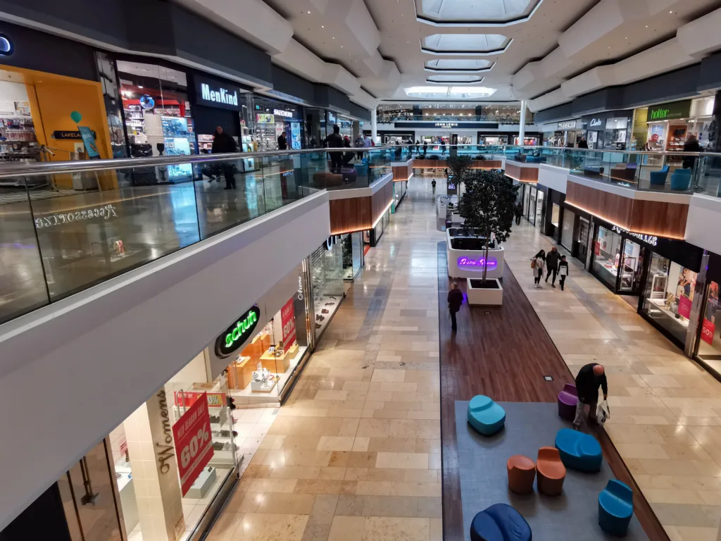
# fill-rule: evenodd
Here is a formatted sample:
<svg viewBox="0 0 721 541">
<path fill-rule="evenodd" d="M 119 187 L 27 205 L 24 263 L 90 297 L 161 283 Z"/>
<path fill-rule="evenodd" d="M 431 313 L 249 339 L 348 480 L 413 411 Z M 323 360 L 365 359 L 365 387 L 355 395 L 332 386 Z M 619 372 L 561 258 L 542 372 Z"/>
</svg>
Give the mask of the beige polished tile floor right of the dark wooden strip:
<svg viewBox="0 0 721 541">
<path fill-rule="evenodd" d="M 505 246 L 508 265 L 572 373 L 589 362 L 606 366 L 606 432 L 671 540 L 715 541 L 721 524 L 721 383 L 578 260 L 570 258 L 565 291 L 550 283 L 534 289 L 529 259 L 551 246 L 523 220 Z"/>
</svg>

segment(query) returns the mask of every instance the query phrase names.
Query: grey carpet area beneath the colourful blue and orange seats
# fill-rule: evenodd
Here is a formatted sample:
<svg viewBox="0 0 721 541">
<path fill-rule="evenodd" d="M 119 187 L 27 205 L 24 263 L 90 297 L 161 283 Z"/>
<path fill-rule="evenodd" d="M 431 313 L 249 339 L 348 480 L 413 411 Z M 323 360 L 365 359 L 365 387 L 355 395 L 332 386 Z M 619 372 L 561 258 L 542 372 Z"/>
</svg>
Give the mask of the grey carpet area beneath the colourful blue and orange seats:
<svg viewBox="0 0 721 541">
<path fill-rule="evenodd" d="M 473 517 L 493 503 L 508 503 L 528 521 L 534 541 L 610 540 L 598 526 L 598 493 L 614 478 L 603 461 L 601 472 L 567 470 L 561 496 L 534 492 L 518 496 L 508 490 L 505 463 L 514 454 L 536 460 L 539 447 L 553 447 L 556 433 L 570 428 L 558 416 L 556 404 L 500 402 L 505 409 L 505 428 L 494 436 L 481 436 L 467 422 L 467 402 L 456 402 L 461 499 L 466 540 Z M 631 519 L 627 540 L 647 540 L 636 516 Z"/>
</svg>

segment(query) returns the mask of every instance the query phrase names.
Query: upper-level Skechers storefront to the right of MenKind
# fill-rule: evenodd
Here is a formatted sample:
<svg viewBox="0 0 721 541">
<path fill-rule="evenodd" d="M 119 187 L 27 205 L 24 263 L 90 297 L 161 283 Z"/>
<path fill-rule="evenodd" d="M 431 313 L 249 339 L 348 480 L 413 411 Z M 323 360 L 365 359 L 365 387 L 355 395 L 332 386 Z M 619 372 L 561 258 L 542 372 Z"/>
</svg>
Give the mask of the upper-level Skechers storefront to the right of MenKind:
<svg viewBox="0 0 721 541">
<path fill-rule="evenodd" d="M 278 137 L 285 133 L 289 150 L 304 148 L 304 111 L 300 105 L 273 100 L 270 97 L 253 96 L 255 131 L 259 151 L 278 150 Z"/>
</svg>

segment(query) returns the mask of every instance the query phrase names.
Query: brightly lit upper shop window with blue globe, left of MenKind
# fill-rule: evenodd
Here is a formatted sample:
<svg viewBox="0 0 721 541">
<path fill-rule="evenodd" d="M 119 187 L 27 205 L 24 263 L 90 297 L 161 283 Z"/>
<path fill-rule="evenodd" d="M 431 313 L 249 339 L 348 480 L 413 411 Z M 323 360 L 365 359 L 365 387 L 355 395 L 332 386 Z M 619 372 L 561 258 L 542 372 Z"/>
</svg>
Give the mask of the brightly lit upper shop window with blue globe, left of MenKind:
<svg viewBox="0 0 721 541">
<path fill-rule="evenodd" d="M 120 60 L 117 66 L 131 156 L 197 154 L 185 73 Z M 171 181 L 187 180 L 193 166 L 168 166 L 167 175 Z"/>
</svg>

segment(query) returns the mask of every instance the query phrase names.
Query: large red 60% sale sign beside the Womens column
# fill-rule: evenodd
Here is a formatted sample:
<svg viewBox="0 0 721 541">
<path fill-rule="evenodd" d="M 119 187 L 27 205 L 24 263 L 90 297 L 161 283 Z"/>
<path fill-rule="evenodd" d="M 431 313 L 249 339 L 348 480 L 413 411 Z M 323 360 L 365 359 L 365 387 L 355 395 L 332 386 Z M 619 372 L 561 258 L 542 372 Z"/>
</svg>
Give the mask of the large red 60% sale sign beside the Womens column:
<svg viewBox="0 0 721 541">
<path fill-rule="evenodd" d="M 205 392 L 173 425 L 180 488 L 185 496 L 213 457 L 211 417 Z"/>
</svg>

